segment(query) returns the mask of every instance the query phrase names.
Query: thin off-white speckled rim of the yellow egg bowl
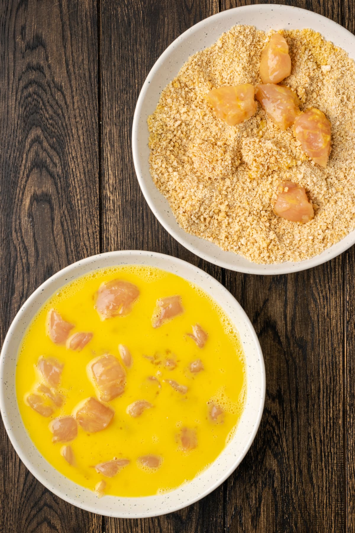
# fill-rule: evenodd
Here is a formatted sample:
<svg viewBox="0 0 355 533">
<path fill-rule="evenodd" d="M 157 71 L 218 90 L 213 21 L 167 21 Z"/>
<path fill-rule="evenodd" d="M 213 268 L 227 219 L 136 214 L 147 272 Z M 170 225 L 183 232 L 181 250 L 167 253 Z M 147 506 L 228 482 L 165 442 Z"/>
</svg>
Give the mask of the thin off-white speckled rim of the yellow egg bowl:
<svg viewBox="0 0 355 533">
<path fill-rule="evenodd" d="M 169 506 L 169 508 L 167 508 L 166 511 L 164 510 L 163 512 L 161 512 L 161 510 L 159 510 L 159 512 L 155 512 L 155 513 L 154 512 L 144 512 L 144 513 L 143 512 L 138 512 L 138 513 L 137 512 L 136 513 L 135 512 L 130 512 L 127 515 L 122 515 L 120 513 L 115 513 L 114 511 L 101 513 L 100 511 L 97 511 L 94 507 L 92 507 L 92 506 L 90 506 L 90 505 L 88 505 L 86 503 L 82 503 L 82 502 L 78 501 L 77 499 L 73 498 L 72 496 L 66 494 L 64 492 L 64 490 L 59 489 L 56 486 L 51 486 L 50 485 L 49 475 L 46 478 L 46 476 L 44 474 L 42 474 L 42 472 L 37 470 L 36 465 L 34 465 L 27 458 L 26 455 L 23 455 L 23 451 L 21 449 L 21 445 L 19 443 L 19 439 L 16 439 L 14 434 L 13 434 L 13 432 L 12 432 L 11 424 L 10 424 L 10 421 L 9 421 L 9 419 L 7 417 L 7 411 L 6 411 L 5 407 L 4 407 L 5 403 L 6 403 L 5 402 L 6 390 L 5 390 L 5 386 L 4 386 L 3 372 L 4 372 L 4 368 L 5 368 L 5 358 L 6 358 L 6 353 L 7 353 L 7 344 L 9 343 L 10 338 L 14 334 L 14 330 L 16 328 L 16 325 L 21 320 L 22 314 L 24 312 L 26 312 L 27 309 L 31 308 L 31 304 L 36 301 L 37 297 L 40 295 L 40 293 L 43 292 L 43 290 L 45 288 L 49 287 L 53 283 L 53 281 L 55 281 L 57 278 L 63 276 L 64 274 L 71 273 L 73 270 L 75 270 L 76 268 L 79 268 L 79 266 L 81 266 L 81 265 L 85 265 L 87 263 L 89 263 L 89 264 L 91 263 L 92 264 L 92 263 L 96 262 L 97 260 L 105 258 L 105 257 L 128 257 L 128 259 L 129 259 L 130 256 L 135 255 L 135 254 L 137 254 L 137 255 L 139 255 L 141 257 L 155 257 L 156 259 L 168 260 L 172 265 L 176 265 L 176 266 L 179 266 L 179 265 L 185 265 L 186 266 L 187 265 L 188 268 L 192 270 L 192 272 L 196 272 L 196 273 L 202 274 L 203 276 L 206 277 L 206 279 L 208 279 L 215 286 L 217 286 L 221 290 L 222 293 L 226 293 L 226 294 L 228 294 L 228 297 L 231 296 L 233 298 L 233 301 L 234 301 L 233 304 L 238 309 L 238 312 L 240 312 L 242 314 L 242 317 L 243 317 L 247 327 L 250 330 L 251 339 L 252 339 L 252 342 L 253 342 L 253 344 L 255 346 L 255 350 L 256 350 L 256 352 L 258 354 L 258 364 L 260 366 L 260 382 L 261 382 L 261 386 L 260 386 L 259 408 L 258 408 L 257 413 L 255 413 L 253 429 L 252 429 L 252 431 L 251 431 L 251 433 L 249 435 L 249 438 L 248 438 L 248 440 L 247 440 L 247 442 L 246 442 L 246 444 L 244 446 L 243 452 L 242 452 L 242 454 L 240 454 L 236 458 L 236 461 L 233 463 L 232 467 L 229 467 L 228 469 L 226 469 L 224 474 L 216 482 L 212 483 L 211 486 L 209 486 L 204 491 L 201 491 L 200 494 L 198 494 L 197 496 L 189 499 L 188 503 L 184 502 L 182 504 L 178 503 L 176 505 L 171 505 L 171 506 Z M 129 262 L 122 263 L 122 265 L 124 265 L 124 264 L 129 264 Z M 138 263 L 134 263 L 134 264 L 138 264 Z M 100 268 L 100 267 L 98 267 L 98 268 Z M 162 268 L 162 269 L 164 270 L 164 268 Z M 175 273 L 178 276 L 180 275 L 178 273 L 178 271 L 176 271 Z M 79 274 L 79 275 L 83 275 L 83 274 Z M 184 276 L 181 276 L 181 277 L 184 278 Z M 73 277 L 72 279 L 75 279 L 75 277 Z M 204 290 L 206 290 L 206 292 L 208 292 L 208 289 L 204 289 Z M 35 313 L 32 314 L 31 318 L 33 318 L 34 314 Z M 16 360 L 17 360 L 17 356 L 16 356 Z M 171 256 L 171 255 L 168 255 L 168 254 L 161 254 L 161 253 L 158 253 L 158 252 L 149 252 L 149 251 L 142 251 L 142 250 L 121 250 L 121 251 L 106 252 L 106 253 L 101 253 L 101 254 L 96 254 L 96 255 L 92 255 L 92 256 L 86 257 L 85 259 L 76 261 L 75 263 L 71 263 L 70 265 L 65 266 L 63 269 L 55 272 L 51 277 L 46 279 L 39 287 L 37 287 L 37 289 L 35 289 L 34 292 L 21 305 L 19 311 L 16 313 L 13 321 L 11 322 L 9 330 L 6 333 L 6 336 L 5 336 L 5 339 L 4 339 L 4 343 L 3 343 L 3 346 L 2 346 L 2 350 L 1 350 L 1 353 L 0 353 L 0 413 L 1 413 L 1 416 L 2 416 L 2 419 L 3 419 L 3 423 L 4 423 L 4 427 L 5 427 L 7 436 L 9 437 L 9 439 L 11 441 L 11 444 L 12 444 L 13 448 L 15 449 L 16 454 L 21 459 L 22 463 L 27 467 L 27 469 L 31 472 L 31 474 L 34 475 L 34 477 L 40 483 L 42 483 L 49 491 L 53 492 L 53 494 L 55 494 L 56 496 L 58 496 L 61 499 L 65 500 L 66 502 L 68 502 L 68 503 L 70 503 L 72 505 L 75 505 L 76 507 L 79 507 L 79 508 L 81 508 L 83 510 L 86 510 L 88 512 L 92 512 L 92 513 L 95 513 L 95 514 L 101 514 L 102 516 L 112 516 L 113 518 L 149 518 L 149 517 L 152 517 L 152 516 L 160 516 L 160 515 L 163 515 L 163 514 L 175 512 L 175 511 L 178 511 L 178 510 L 180 510 L 182 508 L 185 508 L 185 507 L 187 507 L 189 505 L 192 505 L 193 503 L 195 503 L 195 502 L 199 501 L 200 499 L 204 498 L 205 496 L 210 494 L 210 492 L 212 492 L 214 489 L 219 487 L 220 484 L 222 484 L 229 477 L 229 475 L 232 474 L 234 472 L 234 470 L 236 470 L 238 465 L 240 465 L 240 463 L 243 461 L 245 455 L 249 451 L 249 449 L 250 449 L 250 447 L 252 445 L 252 442 L 253 442 L 253 440 L 255 438 L 255 435 L 257 434 L 257 432 L 259 430 L 259 426 L 260 426 L 260 422 L 261 422 L 261 418 L 262 418 L 262 414 L 263 414 L 263 408 L 264 408 L 264 405 L 265 405 L 265 397 L 266 397 L 266 372 L 265 372 L 265 362 L 264 362 L 264 359 L 263 359 L 261 346 L 260 346 L 257 334 L 255 333 L 255 330 L 253 328 L 253 325 L 252 325 L 249 317 L 245 313 L 244 309 L 242 308 L 241 304 L 236 300 L 236 298 L 233 296 L 233 294 L 228 291 L 228 289 L 226 287 L 224 287 L 216 278 L 213 278 L 208 272 L 205 272 L 204 270 L 202 270 L 199 267 L 193 265 L 192 263 L 188 263 L 187 261 L 178 259 L 177 257 Z M 17 397 L 16 397 L 16 401 L 17 401 Z M 16 408 L 18 409 L 17 405 L 16 405 Z M 20 415 L 20 419 L 21 419 L 21 422 L 22 422 L 21 415 Z M 22 425 L 23 425 L 23 422 L 22 422 Z M 23 429 L 24 429 L 24 431 L 27 431 L 24 426 L 23 426 Z M 216 459 L 215 459 L 215 461 L 216 461 Z M 48 465 L 51 466 L 54 469 L 54 467 L 50 463 L 48 463 Z M 69 479 L 69 478 L 66 478 L 66 479 Z M 193 481 L 193 480 L 191 480 L 191 481 Z M 75 483 L 73 481 L 71 481 L 71 482 L 73 484 L 75 484 L 76 486 L 78 486 L 77 483 Z M 78 487 L 81 487 L 81 486 L 78 486 Z M 174 491 L 171 491 L 170 494 L 172 494 L 172 492 L 174 492 Z M 151 498 L 153 498 L 153 497 L 154 496 L 151 496 Z M 119 497 L 119 496 L 118 496 L 118 498 L 125 499 L 125 497 Z M 127 499 L 132 499 L 132 498 L 133 497 L 127 497 Z M 137 497 L 136 499 L 140 499 L 140 498 L 141 497 Z M 145 497 L 145 498 L 150 498 L 150 496 Z"/>
</svg>

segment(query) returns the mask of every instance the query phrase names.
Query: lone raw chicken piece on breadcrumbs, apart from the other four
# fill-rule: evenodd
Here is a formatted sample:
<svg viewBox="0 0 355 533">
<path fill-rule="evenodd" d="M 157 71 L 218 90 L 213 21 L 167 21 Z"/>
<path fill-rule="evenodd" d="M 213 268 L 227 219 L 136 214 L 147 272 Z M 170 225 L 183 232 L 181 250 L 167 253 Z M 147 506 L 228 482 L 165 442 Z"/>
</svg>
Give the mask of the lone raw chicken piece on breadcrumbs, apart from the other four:
<svg viewBox="0 0 355 533">
<path fill-rule="evenodd" d="M 282 191 L 277 196 L 274 212 L 283 219 L 301 224 L 309 222 L 314 216 L 313 206 L 308 201 L 306 189 L 292 181 L 285 181 L 282 184 Z"/>
</svg>

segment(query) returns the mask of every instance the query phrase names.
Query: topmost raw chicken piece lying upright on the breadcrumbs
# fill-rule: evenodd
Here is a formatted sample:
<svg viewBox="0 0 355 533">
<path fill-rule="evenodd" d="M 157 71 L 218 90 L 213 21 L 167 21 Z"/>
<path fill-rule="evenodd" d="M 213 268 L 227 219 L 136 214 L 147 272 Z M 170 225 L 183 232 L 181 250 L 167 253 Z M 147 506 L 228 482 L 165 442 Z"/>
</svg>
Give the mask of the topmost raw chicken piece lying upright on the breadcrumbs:
<svg viewBox="0 0 355 533">
<path fill-rule="evenodd" d="M 291 58 L 286 39 L 279 33 L 271 35 L 261 52 L 260 77 L 262 83 L 279 83 L 291 74 Z"/>
</svg>

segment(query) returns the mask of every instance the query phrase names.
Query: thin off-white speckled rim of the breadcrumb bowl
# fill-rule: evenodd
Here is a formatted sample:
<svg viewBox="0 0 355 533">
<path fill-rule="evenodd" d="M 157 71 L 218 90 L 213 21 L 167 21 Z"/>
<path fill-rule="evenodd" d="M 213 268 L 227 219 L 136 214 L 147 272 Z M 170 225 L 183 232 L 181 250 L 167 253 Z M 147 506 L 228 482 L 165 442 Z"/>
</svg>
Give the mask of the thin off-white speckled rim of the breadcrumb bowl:
<svg viewBox="0 0 355 533">
<path fill-rule="evenodd" d="M 133 163 L 135 167 L 136 177 L 139 183 L 139 187 L 142 190 L 143 196 L 148 206 L 150 207 L 152 213 L 156 217 L 156 219 L 161 223 L 163 228 L 166 229 L 168 233 L 172 237 L 174 237 L 174 239 L 178 241 L 178 243 L 180 243 L 182 246 L 187 248 L 190 252 L 201 257 L 201 259 L 204 259 L 205 261 L 208 261 L 212 264 L 221 266 L 222 268 L 226 268 L 228 270 L 233 270 L 236 272 L 243 272 L 246 274 L 259 274 L 263 276 L 265 275 L 273 276 L 275 274 L 288 274 L 288 273 L 293 273 L 293 272 L 299 272 L 302 270 L 308 270 L 310 268 L 313 268 L 314 266 L 318 266 L 320 264 L 326 263 L 327 261 L 330 261 L 331 259 L 334 259 L 334 257 L 337 257 L 338 255 L 342 254 L 347 249 L 349 249 L 351 246 L 353 246 L 353 244 L 355 244 L 355 229 L 349 232 L 345 237 L 343 237 L 343 239 L 341 239 L 334 245 L 330 246 L 329 248 L 326 248 L 321 254 L 315 255 L 303 261 L 298 261 L 298 262 L 285 261 L 283 263 L 270 263 L 270 264 L 254 263 L 252 261 L 246 260 L 246 258 L 241 256 L 240 254 L 235 254 L 235 256 L 243 257 L 244 260 L 250 263 L 250 266 L 230 264 L 230 262 L 225 261 L 224 259 L 220 259 L 217 256 L 217 254 L 216 254 L 216 257 L 213 257 L 210 252 L 204 252 L 204 251 L 201 251 L 199 248 L 196 248 L 196 246 L 194 246 L 192 243 L 189 243 L 189 241 L 187 240 L 188 237 L 185 237 L 189 235 L 186 231 L 184 231 L 183 235 L 180 236 L 178 231 L 169 222 L 169 220 L 164 220 L 164 217 L 162 215 L 162 209 L 160 209 L 157 206 L 156 202 L 151 196 L 148 190 L 148 187 L 146 185 L 147 180 L 143 177 L 144 171 L 141 165 L 142 158 L 141 156 L 139 156 L 139 148 L 138 148 L 138 141 L 137 141 L 139 118 L 142 115 L 142 109 L 144 106 L 144 98 L 145 98 L 145 94 L 150 84 L 150 79 L 154 76 L 155 71 L 158 70 L 161 63 L 164 62 L 166 58 L 168 58 L 170 52 L 179 44 L 179 42 L 184 41 L 184 39 L 189 34 L 193 34 L 197 29 L 203 27 L 204 25 L 210 24 L 214 20 L 217 20 L 218 18 L 221 17 L 221 15 L 225 15 L 226 13 L 230 13 L 232 15 L 233 13 L 242 13 L 242 12 L 246 12 L 246 13 L 251 12 L 252 14 L 255 11 L 266 11 L 268 13 L 270 13 L 271 11 L 284 11 L 287 13 L 298 12 L 303 15 L 307 13 L 308 15 L 310 15 L 311 18 L 316 17 L 318 21 L 319 20 L 326 21 L 325 23 L 330 27 L 341 29 L 344 35 L 348 34 L 348 37 L 354 41 L 354 47 L 355 47 L 355 35 L 353 35 L 351 31 L 344 28 L 343 26 L 341 26 L 339 23 L 335 22 L 334 20 L 325 17 L 324 15 L 303 9 L 301 7 L 294 7 L 290 5 L 284 5 L 284 4 L 252 4 L 252 5 L 245 5 L 245 6 L 240 6 L 240 7 L 233 7 L 232 9 L 220 11 L 218 13 L 210 15 L 210 17 L 207 17 L 201 20 L 200 22 L 197 22 L 195 25 L 191 26 L 190 28 L 185 30 L 182 34 L 180 34 L 176 39 L 174 39 L 174 41 L 172 41 L 172 43 L 162 52 L 159 58 L 154 62 L 152 68 L 150 69 L 150 71 L 148 72 L 146 76 L 146 79 L 142 85 L 141 91 L 139 92 L 139 95 L 138 95 L 136 108 L 135 108 L 135 112 L 133 116 L 132 131 L 131 131 L 131 144 L 132 144 Z M 182 66 L 183 65 L 181 64 L 181 67 Z M 159 95 L 159 98 L 160 98 L 160 95 Z M 152 180 L 150 172 L 149 172 L 149 176 L 150 176 L 150 179 Z M 162 198 L 164 198 L 163 195 L 161 196 Z M 171 211 L 170 206 L 169 206 L 169 209 Z M 174 216 L 174 221 L 177 223 L 175 216 Z M 340 251 L 339 251 L 339 249 L 337 248 L 337 245 L 342 243 L 342 241 L 344 241 L 347 237 L 351 235 L 352 237 L 349 238 L 348 242 L 346 242 L 340 247 Z M 203 240 L 202 238 L 200 239 Z M 218 245 L 215 244 L 215 246 L 216 246 L 216 249 L 219 249 L 219 251 L 222 252 L 222 249 Z M 273 270 L 273 268 L 276 270 Z"/>
</svg>

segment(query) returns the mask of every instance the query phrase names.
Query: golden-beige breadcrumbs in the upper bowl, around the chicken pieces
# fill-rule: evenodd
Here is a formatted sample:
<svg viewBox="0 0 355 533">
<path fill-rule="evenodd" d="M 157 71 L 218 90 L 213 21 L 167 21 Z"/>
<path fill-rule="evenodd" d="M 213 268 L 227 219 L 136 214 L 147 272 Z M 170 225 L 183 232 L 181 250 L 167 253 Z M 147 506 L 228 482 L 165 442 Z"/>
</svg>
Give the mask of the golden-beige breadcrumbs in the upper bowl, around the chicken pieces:
<svg viewBox="0 0 355 533">
<path fill-rule="evenodd" d="M 197 52 L 162 92 L 148 118 L 150 169 L 180 226 L 255 263 L 309 259 L 355 227 L 355 62 L 313 30 L 283 31 L 301 110 L 317 107 L 332 124 L 327 168 L 303 154 L 258 104 L 236 126 L 216 118 L 205 95 L 222 85 L 261 83 L 260 54 L 274 31 L 234 26 Z M 307 224 L 276 216 L 280 182 L 306 188 Z"/>
</svg>

